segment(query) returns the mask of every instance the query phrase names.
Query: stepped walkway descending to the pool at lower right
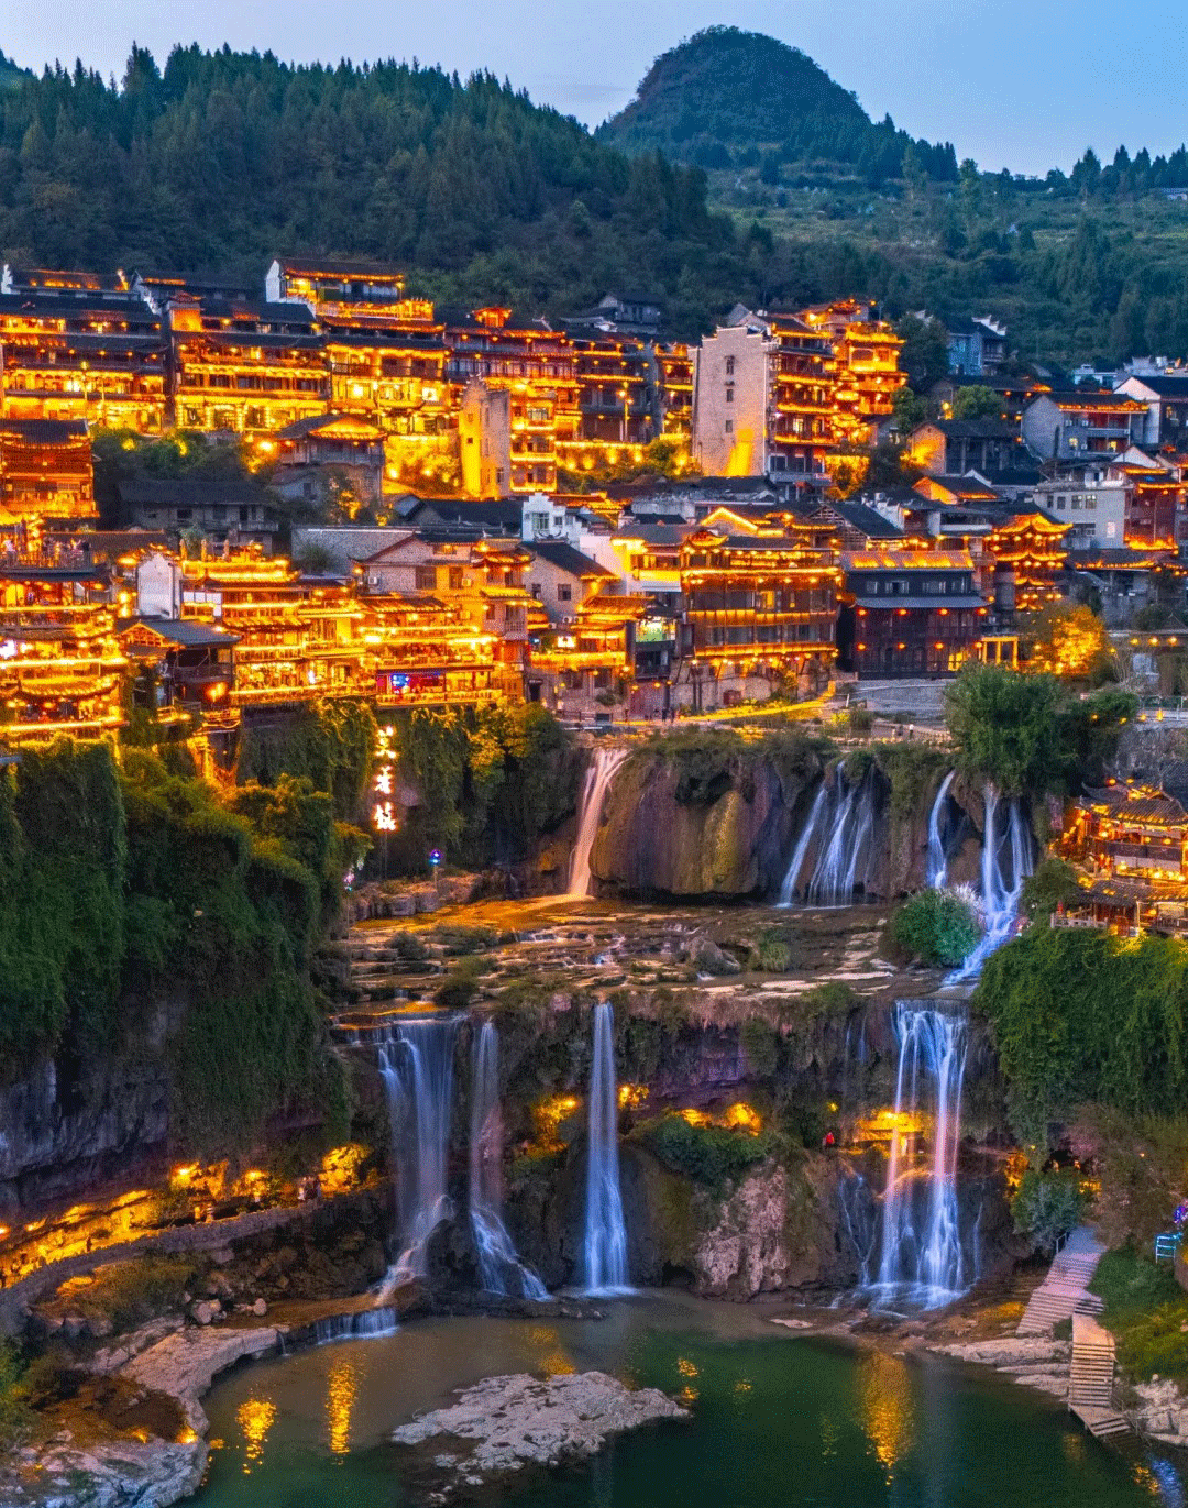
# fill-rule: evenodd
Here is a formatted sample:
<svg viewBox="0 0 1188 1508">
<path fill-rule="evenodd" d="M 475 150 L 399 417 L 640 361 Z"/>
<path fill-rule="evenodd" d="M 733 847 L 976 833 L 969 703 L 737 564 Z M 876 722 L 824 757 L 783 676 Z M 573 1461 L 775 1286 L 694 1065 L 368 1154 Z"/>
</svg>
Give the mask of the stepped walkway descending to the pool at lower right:
<svg viewBox="0 0 1188 1508">
<path fill-rule="evenodd" d="M 1098 1439 L 1131 1428 L 1114 1407 L 1114 1338 L 1095 1318 L 1102 1310 L 1101 1298 L 1088 1292 L 1104 1252 L 1088 1226 L 1073 1231 L 1031 1294 L 1016 1330 L 1021 1336 L 1043 1336 L 1072 1320 L 1069 1408 Z"/>
</svg>

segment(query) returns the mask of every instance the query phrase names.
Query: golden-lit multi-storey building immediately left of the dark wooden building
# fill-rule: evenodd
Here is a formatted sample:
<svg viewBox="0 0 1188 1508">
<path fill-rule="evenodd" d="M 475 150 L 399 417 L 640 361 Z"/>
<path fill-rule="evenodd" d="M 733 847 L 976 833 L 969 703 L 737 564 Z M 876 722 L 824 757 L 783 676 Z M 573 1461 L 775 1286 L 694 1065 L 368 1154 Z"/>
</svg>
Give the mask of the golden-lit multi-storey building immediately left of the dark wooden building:
<svg viewBox="0 0 1188 1508">
<path fill-rule="evenodd" d="M 715 680 L 778 671 L 820 685 L 835 659 L 840 572 L 811 531 L 725 534 L 681 544 L 683 653 Z"/>
</svg>

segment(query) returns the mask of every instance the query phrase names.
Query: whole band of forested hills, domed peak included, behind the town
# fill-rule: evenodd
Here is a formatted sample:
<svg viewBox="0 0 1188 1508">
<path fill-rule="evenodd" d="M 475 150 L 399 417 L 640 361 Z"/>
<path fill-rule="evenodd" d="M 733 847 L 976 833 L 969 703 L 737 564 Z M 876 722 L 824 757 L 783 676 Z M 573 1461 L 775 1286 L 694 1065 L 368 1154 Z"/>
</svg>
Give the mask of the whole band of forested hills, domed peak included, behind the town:
<svg viewBox="0 0 1188 1508">
<path fill-rule="evenodd" d="M 1055 365 L 1180 356 L 1180 184 L 1183 149 L 983 173 L 871 122 L 802 53 L 730 29 L 665 54 L 597 136 L 488 74 L 416 63 L 190 47 L 158 68 L 137 48 L 119 84 L 0 65 L 12 262 L 255 284 L 274 255 L 357 256 L 439 300 L 552 317 L 642 285 L 678 338 L 736 300 L 862 294 L 893 318 L 992 314 L 1013 350 Z"/>
</svg>

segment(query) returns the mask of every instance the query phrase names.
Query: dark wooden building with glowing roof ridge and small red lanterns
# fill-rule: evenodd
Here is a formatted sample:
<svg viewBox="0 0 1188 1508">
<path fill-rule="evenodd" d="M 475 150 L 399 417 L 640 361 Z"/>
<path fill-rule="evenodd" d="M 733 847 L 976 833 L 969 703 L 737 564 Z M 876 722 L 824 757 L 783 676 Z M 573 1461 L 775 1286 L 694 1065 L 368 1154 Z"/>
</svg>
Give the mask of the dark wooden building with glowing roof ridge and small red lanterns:
<svg viewBox="0 0 1188 1508">
<path fill-rule="evenodd" d="M 966 550 L 847 550 L 838 664 L 859 676 L 936 676 L 971 657 L 986 615 Z"/>
</svg>

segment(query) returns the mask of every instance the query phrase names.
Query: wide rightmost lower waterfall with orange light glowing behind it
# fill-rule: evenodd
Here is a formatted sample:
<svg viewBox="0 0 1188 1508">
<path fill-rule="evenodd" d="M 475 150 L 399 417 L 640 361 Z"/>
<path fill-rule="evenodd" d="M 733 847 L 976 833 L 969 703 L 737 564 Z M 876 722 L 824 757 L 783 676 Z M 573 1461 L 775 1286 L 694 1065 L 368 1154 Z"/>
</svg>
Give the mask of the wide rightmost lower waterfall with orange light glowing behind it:
<svg viewBox="0 0 1188 1508">
<path fill-rule="evenodd" d="M 930 1006 L 896 1006 L 899 1074 L 896 1120 L 882 1208 L 876 1301 L 906 1300 L 935 1309 L 968 1288 L 957 1211 L 957 1145 L 965 1080 L 965 1016 Z M 915 1167 L 920 1113 L 935 1111 L 932 1166 Z M 903 1117 L 912 1126 L 903 1133 Z"/>
</svg>

